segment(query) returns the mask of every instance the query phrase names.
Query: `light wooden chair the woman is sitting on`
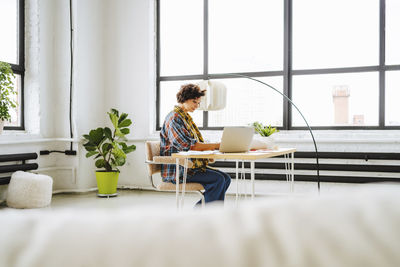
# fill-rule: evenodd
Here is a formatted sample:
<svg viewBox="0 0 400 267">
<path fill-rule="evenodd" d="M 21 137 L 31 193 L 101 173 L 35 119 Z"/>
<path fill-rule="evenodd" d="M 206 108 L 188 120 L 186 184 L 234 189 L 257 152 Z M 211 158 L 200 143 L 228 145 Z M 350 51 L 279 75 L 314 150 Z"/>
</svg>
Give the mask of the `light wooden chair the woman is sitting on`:
<svg viewBox="0 0 400 267">
<path fill-rule="evenodd" d="M 154 184 L 153 175 L 156 173 L 161 173 L 161 164 L 176 164 L 176 160 L 170 156 L 160 156 L 160 141 L 146 141 L 145 143 L 145 150 L 146 150 L 146 164 L 147 170 L 149 173 L 149 179 L 151 185 L 157 191 L 174 191 L 176 193 L 176 205 L 179 208 L 179 199 L 178 193 L 176 192 L 176 184 L 170 182 L 163 182 L 161 181 L 159 184 Z M 184 165 L 183 159 L 179 162 L 180 165 Z M 193 166 L 192 162 L 188 162 L 188 168 Z M 179 191 L 182 192 L 183 184 L 179 184 Z M 205 200 L 203 195 L 204 187 L 199 183 L 186 183 L 185 192 L 193 192 L 197 193 L 201 196 L 201 204 L 204 207 Z M 184 197 L 184 195 L 182 196 Z M 182 203 L 183 204 L 183 203 Z"/>
</svg>

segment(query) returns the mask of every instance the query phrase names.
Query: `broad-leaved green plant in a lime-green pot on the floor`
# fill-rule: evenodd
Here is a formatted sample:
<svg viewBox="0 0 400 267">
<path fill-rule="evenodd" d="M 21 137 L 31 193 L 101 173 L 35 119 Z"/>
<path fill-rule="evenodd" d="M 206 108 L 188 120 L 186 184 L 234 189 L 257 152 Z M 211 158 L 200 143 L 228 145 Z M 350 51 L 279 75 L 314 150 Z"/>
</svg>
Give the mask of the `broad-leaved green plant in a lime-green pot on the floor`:
<svg viewBox="0 0 400 267">
<path fill-rule="evenodd" d="M 128 146 L 125 135 L 129 134 L 129 126 L 132 121 L 128 114 L 119 115 L 118 110 L 111 109 L 107 112 L 114 127 L 93 129 L 89 134 L 83 135 L 85 141 L 83 146 L 87 150 L 86 157 L 94 157 L 98 196 L 109 197 L 117 195 L 117 184 L 119 177 L 118 167 L 126 162 L 126 154 L 136 149 L 135 145 Z"/>
</svg>

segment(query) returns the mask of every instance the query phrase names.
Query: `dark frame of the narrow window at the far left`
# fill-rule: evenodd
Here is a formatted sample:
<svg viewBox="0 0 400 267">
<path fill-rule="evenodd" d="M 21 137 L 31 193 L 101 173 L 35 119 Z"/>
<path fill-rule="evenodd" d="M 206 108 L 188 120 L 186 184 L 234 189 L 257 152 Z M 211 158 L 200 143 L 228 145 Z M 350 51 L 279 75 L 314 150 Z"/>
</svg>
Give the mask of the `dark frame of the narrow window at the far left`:
<svg viewBox="0 0 400 267">
<path fill-rule="evenodd" d="M 20 88 L 20 124 L 18 126 L 5 126 L 4 130 L 25 130 L 25 103 L 24 103 L 24 78 L 25 78 L 25 0 L 18 1 L 18 64 L 9 63 L 12 71 L 21 76 Z"/>
</svg>

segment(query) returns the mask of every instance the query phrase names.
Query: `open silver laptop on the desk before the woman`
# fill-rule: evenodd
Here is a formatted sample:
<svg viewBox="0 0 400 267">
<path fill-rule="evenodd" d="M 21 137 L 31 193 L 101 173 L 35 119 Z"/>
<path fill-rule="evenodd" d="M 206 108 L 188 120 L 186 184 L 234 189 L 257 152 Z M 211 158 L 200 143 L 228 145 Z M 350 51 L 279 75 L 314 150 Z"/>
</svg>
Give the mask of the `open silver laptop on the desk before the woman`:
<svg viewBox="0 0 400 267">
<path fill-rule="evenodd" d="M 248 126 L 225 127 L 219 151 L 239 153 L 249 151 L 254 136 L 254 128 Z"/>
</svg>

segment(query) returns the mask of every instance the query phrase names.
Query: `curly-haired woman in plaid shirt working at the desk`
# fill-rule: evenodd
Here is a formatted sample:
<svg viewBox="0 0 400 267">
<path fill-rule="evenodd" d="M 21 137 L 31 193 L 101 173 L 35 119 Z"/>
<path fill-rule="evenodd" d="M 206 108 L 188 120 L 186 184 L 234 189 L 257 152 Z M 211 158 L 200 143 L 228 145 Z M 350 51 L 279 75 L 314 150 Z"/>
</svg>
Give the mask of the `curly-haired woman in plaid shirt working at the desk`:
<svg viewBox="0 0 400 267">
<path fill-rule="evenodd" d="M 178 105 L 165 118 L 161 128 L 161 156 L 188 150 L 215 150 L 219 143 L 204 143 L 203 137 L 188 112 L 195 111 L 200 105 L 200 98 L 205 95 L 198 85 L 183 85 L 176 95 Z M 193 167 L 188 170 L 187 181 L 200 183 L 205 189 L 206 202 L 224 200 L 225 192 L 231 183 L 231 177 L 219 170 L 208 167 L 207 159 L 192 159 Z M 174 164 L 162 165 L 163 181 L 175 183 L 176 167 Z M 183 177 L 183 167 L 179 168 L 179 177 Z M 200 201 L 197 203 L 200 204 Z"/>
</svg>

